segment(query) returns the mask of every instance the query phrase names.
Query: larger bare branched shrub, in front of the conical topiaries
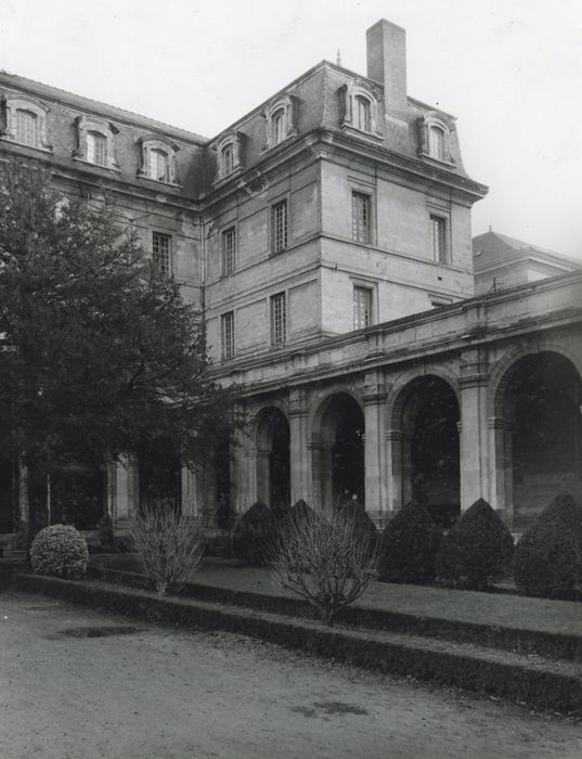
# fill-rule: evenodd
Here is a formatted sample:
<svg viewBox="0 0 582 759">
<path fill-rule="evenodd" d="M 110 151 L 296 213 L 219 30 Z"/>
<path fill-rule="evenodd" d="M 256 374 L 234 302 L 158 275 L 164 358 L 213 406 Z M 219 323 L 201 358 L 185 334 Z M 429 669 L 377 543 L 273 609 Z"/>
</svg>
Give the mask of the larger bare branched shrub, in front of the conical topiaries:
<svg viewBox="0 0 582 759">
<path fill-rule="evenodd" d="M 323 622 L 333 625 L 378 577 L 378 543 L 348 509 L 322 507 L 307 518 L 292 510 L 270 563 L 282 588 L 306 599 Z"/>
</svg>

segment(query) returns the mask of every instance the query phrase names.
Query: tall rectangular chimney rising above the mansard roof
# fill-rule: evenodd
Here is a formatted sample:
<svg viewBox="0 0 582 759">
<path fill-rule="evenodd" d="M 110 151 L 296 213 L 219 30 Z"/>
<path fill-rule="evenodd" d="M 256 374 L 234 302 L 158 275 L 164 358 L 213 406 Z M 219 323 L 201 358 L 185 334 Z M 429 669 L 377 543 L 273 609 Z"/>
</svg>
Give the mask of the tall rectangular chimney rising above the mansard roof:
<svg viewBox="0 0 582 759">
<path fill-rule="evenodd" d="M 365 33 L 367 78 L 384 86 L 388 113 L 404 113 L 406 101 L 406 30 L 380 18 Z"/>
</svg>

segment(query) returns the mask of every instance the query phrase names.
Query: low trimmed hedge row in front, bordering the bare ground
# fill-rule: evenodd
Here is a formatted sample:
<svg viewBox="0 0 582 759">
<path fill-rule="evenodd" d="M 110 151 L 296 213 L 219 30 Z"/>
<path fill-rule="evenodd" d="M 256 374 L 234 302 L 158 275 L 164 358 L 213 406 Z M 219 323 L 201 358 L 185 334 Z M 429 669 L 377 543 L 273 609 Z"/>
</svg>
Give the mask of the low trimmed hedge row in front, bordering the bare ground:
<svg viewBox="0 0 582 759">
<path fill-rule="evenodd" d="M 172 622 L 206 630 L 228 630 L 280 643 L 312 654 L 341 659 L 380 671 L 436 680 L 496 696 L 527 702 L 542 708 L 573 711 L 582 707 L 582 679 L 559 665 L 516 661 L 509 654 L 481 651 L 443 651 L 429 642 L 402 641 L 393 635 L 331 630 L 312 622 L 292 621 L 266 613 L 216 604 L 164 599 L 142 591 L 128 591 L 96 583 L 20 575 L 21 590 L 86 606 L 121 612 L 148 620 Z"/>
</svg>

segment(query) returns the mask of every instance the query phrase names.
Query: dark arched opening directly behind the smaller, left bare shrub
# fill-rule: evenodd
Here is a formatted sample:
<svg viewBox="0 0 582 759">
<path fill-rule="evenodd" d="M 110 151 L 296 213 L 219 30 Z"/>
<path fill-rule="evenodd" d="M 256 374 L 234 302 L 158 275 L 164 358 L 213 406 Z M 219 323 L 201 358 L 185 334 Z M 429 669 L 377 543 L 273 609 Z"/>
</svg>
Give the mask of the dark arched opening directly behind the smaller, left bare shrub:
<svg viewBox="0 0 582 759">
<path fill-rule="evenodd" d="M 140 504 L 171 504 L 182 500 L 182 463 L 171 438 L 148 440 L 139 452 Z"/>
</svg>

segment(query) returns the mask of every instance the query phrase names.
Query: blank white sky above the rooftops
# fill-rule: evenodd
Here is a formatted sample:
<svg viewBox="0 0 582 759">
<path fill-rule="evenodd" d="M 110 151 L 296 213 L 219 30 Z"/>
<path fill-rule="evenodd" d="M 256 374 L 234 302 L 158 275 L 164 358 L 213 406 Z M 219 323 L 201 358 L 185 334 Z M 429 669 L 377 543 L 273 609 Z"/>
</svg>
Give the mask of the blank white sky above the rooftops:
<svg viewBox="0 0 582 759">
<path fill-rule="evenodd" d="M 0 0 L 0 68 L 210 138 L 338 48 L 365 75 L 381 17 L 490 186 L 474 234 L 582 259 L 581 0 Z"/>
</svg>

